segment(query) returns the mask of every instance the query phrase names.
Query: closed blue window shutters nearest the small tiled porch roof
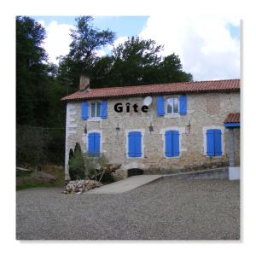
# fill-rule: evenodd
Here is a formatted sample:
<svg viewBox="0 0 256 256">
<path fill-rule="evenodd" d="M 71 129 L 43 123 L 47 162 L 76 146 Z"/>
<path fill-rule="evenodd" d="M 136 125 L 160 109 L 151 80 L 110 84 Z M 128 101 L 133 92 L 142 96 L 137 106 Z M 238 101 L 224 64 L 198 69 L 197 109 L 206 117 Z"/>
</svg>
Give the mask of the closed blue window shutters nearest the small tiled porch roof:
<svg viewBox="0 0 256 256">
<path fill-rule="evenodd" d="M 208 129 L 207 130 L 207 156 L 222 155 L 221 145 L 221 130 Z"/>
</svg>

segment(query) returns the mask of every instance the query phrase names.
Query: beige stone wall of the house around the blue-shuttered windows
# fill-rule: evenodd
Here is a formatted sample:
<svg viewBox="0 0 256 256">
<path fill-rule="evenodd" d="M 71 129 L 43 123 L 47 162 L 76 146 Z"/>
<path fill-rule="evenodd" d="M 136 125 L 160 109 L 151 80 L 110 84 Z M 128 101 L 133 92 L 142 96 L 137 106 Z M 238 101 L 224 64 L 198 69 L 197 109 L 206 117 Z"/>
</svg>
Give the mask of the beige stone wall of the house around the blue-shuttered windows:
<svg viewBox="0 0 256 256">
<path fill-rule="evenodd" d="M 173 95 L 172 95 L 173 96 Z M 167 97 L 167 96 L 166 96 Z M 65 172 L 68 179 L 68 152 L 80 143 L 84 152 L 87 150 L 87 135 L 90 131 L 102 134 L 101 149 L 109 162 L 122 164 L 116 172 L 117 178 L 127 177 L 127 170 L 131 168 L 143 169 L 144 173 L 163 173 L 166 170 L 177 169 L 195 170 L 196 168 L 227 166 L 228 165 L 228 131 L 224 128 L 224 119 L 228 113 L 240 112 L 239 92 L 194 93 L 187 95 L 187 114 L 175 116 L 157 116 L 156 96 L 148 113 L 116 113 L 113 106 L 117 102 L 137 103 L 143 105 L 144 97 L 124 97 L 108 99 L 107 119 L 81 119 L 81 102 L 67 102 L 66 126 L 66 162 Z M 94 101 L 95 102 L 95 101 Z M 152 123 L 154 131 L 149 131 Z M 86 125 L 87 134 L 84 134 Z M 119 130 L 116 128 L 119 127 Z M 180 131 L 180 156 L 166 158 L 164 156 L 164 133 L 166 129 Z M 223 132 L 223 155 L 207 157 L 206 129 L 218 128 Z M 127 158 L 126 134 L 128 131 L 142 131 L 143 158 Z M 235 131 L 235 161 L 240 158 L 240 131 Z"/>
</svg>

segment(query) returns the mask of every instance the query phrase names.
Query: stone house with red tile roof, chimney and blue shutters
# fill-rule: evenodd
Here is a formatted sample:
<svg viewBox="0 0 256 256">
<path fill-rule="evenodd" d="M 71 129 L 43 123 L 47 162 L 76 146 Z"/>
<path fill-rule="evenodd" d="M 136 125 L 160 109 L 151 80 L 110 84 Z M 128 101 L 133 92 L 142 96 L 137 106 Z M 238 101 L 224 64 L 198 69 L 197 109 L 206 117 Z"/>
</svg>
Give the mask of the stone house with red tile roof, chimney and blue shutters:
<svg viewBox="0 0 256 256">
<path fill-rule="evenodd" d="M 82 77 L 62 100 L 66 179 L 75 143 L 122 164 L 117 178 L 240 165 L 239 79 L 90 89 Z"/>
</svg>

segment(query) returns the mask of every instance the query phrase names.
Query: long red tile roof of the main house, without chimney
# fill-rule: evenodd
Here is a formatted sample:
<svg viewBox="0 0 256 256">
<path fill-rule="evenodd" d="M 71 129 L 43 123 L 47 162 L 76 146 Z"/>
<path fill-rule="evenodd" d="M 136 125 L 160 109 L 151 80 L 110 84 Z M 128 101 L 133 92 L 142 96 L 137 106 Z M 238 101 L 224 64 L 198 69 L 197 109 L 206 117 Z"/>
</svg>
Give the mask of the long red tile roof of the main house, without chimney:
<svg viewBox="0 0 256 256">
<path fill-rule="evenodd" d="M 146 96 L 214 91 L 222 92 L 232 90 L 240 90 L 240 79 L 98 88 L 87 91 L 77 91 L 69 96 L 63 97 L 61 100 L 70 101 L 122 96 Z"/>
</svg>

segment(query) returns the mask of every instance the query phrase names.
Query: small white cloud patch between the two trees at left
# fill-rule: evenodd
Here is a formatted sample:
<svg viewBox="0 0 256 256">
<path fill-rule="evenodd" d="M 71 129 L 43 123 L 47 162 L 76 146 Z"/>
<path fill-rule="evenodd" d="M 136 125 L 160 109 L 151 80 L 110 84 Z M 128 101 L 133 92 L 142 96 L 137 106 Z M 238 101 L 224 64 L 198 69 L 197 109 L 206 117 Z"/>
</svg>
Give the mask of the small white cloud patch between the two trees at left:
<svg viewBox="0 0 256 256">
<path fill-rule="evenodd" d="M 44 40 L 44 49 L 49 55 L 49 61 L 57 64 L 56 58 L 59 55 L 67 55 L 69 52 L 69 44 L 72 39 L 69 36 L 70 29 L 73 25 L 59 24 L 57 21 L 51 21 L 48 26 L 45 26 L 44 20 L 38 22 L 45 27 L 47 38 Z"/>
</svg>

